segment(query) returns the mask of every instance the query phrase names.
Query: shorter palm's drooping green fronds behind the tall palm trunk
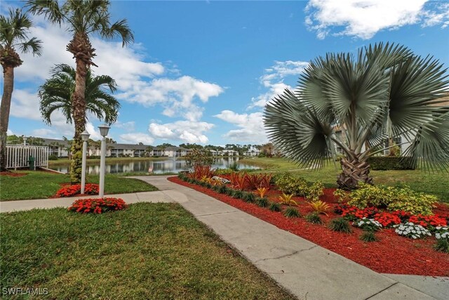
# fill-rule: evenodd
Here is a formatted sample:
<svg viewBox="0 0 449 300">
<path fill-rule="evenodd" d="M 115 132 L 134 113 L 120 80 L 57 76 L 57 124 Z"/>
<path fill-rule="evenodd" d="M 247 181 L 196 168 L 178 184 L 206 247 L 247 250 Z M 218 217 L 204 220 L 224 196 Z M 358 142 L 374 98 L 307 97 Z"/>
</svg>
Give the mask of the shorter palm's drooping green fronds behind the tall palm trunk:
<svg viewBox="0 0 449 300">
<path fill-rule="evenodd" d="M 61 110 L 72 124 L 74 120 L 72 94 L 75 91 L 76 72 L 69 65 L 56 65 L 52 70 L 52 77 L 39 87 L 41 98 L 40 109 L 43 120 L 51 124 L 51 115 L 55 110 Z M 86 73 L 86 110 L 108 124 L 116 122 L 119 115 L 120 103 L 109 93 L 116 91 L 116 82 L 107 75 L 95 76 L 91 70 Z M 87 115 L 84 115 L 88 121 Z"/>
</svg>

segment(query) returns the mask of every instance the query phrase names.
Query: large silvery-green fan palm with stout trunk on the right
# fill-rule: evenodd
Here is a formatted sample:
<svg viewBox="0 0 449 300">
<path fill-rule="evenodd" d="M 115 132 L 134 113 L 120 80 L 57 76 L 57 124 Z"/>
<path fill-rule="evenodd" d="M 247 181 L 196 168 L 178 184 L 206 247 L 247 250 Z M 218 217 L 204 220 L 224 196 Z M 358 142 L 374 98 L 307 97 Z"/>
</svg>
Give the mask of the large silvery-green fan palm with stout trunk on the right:
<svg viewBox="0 0 449 300">
<path fill-rule="evenodd" d="M 363 48 L 356 57 L 330 53 L 309 64 L 294 92 L 286 89 L 267 105 L 264 124 L 276 148 L 306 167 L 323 167 L 341 148 L 340 188 L 372 183 L 367 159 L 394 147 L 384 145 L 388 138 L 404 138 L 403 154 L 424 167 L 445 169 L 445 72 L 438 60 L 388 43 Z"/>
</svg>

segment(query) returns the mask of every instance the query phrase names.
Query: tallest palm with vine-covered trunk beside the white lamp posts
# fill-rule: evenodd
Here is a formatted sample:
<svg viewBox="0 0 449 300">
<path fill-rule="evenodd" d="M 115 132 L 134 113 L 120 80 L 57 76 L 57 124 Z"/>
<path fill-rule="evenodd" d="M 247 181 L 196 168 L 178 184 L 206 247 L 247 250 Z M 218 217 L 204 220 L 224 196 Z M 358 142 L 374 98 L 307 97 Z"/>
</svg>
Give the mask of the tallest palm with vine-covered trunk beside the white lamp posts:
<svg viewBox="0 0 449 300">
<path fill-rule="evenodd" d="M 67 51 L 73 54 L 76 62 L 75 89 L 72 93 L 72 115 L 75 125 L 72 146 L 71 181 L 81 181 L 81 133 L 86 126 L 86 75 L 93 63 L 95 48 L 89 37 L 98 34 L 105 39 L 120 37 L 122 46 L 134 41 L 133 32 L 126 19 L 111 24 L 108 0 L 67 0 L 60 4 L 58 0 L 28 0 L 27 7 L 31 13 L 43 15 L 54 24 L 67 25 L 73 34 L 67 45 Z M 96 65 L 95 65 L 96 66 Z"/>
</svg>

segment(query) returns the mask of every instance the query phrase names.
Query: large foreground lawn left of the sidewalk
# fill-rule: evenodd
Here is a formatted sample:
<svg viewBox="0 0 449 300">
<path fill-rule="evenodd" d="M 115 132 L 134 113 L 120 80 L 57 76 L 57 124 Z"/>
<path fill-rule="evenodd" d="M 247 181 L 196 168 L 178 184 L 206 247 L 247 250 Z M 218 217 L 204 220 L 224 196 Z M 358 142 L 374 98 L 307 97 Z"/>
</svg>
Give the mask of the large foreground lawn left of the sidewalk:
<svg viewBox="0 0 449 300">
<path fill-rule="evenodd" d="M 48 289 L 41 298 L 294 299 L 179 204 L 35 209 L 0 223 L 1 287 Z"/>
</svg>

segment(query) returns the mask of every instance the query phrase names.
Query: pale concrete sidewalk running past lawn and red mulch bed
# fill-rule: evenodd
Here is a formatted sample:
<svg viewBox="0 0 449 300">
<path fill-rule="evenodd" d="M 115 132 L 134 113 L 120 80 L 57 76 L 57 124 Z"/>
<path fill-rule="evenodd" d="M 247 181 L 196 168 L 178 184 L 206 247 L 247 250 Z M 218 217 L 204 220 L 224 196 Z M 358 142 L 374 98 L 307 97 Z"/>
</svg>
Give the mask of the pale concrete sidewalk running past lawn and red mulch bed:
<svg viewBox="0 0 449 300">
<path fill-rule="evenodd" d="M 128 203 L 180 203 L 298 299 L 448 299 L 449 278 L 376 273 L 167 177 L 134 177 L 155 185 L 157 192 L 108 196 Z M 0 202 L 0 211 L 67 207 L 73 201 Z"/>
</svg>

